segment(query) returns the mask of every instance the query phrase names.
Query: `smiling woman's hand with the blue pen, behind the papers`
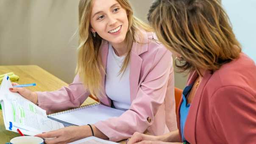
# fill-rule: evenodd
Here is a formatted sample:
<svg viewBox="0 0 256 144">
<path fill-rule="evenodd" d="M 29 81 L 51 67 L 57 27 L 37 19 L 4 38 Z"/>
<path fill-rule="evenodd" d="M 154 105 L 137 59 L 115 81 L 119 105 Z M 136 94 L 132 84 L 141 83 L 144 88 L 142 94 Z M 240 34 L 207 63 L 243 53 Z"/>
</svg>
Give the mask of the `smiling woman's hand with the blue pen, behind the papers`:
<svg viewBox="0 0 256 144">
<path fill-rule="evenodd" d="M 12 86 L 17 86 L 19 85 L 18 83 L 11 83 Z M 22 97 L 25 97 L 26 99 L 30 100 L 34 104 L 37 105 L 38 103 L 38 98 L 36 92 L 30 91 L 25 88 L 10 88 L 9 89 L 11 92 L 18 92 Z"/>
</svg>

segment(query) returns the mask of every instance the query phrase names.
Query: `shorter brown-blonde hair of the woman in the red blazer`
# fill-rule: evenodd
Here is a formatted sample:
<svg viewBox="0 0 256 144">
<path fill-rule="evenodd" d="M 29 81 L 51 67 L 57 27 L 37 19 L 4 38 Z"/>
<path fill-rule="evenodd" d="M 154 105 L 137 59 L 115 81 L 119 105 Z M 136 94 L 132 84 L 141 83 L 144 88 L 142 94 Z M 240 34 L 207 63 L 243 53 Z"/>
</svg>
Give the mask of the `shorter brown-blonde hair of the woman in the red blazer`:
<svg viewBox="0 0 256 144">
<path fill-rule="evenodd" d="M 241 52 L 220 0 L 156 0 L 147 19 L 159 41 L 182 56 L 175 61 L 181 72 L 214 72 Z"/>
</svg>

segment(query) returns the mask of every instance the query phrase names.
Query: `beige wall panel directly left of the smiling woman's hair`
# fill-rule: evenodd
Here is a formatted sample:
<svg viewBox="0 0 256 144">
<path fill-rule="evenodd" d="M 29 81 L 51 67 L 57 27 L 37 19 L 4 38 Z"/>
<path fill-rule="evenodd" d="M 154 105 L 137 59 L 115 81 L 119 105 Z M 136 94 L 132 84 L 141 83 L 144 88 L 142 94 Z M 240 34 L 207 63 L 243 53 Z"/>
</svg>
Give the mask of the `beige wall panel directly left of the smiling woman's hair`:
<svg viewBox="0 0 256 144">
<path fill-rule="evenodd" d="M 31 0 L 31 58 L 71 83 L 75 76 L 79 0 Z"/>
</svg>

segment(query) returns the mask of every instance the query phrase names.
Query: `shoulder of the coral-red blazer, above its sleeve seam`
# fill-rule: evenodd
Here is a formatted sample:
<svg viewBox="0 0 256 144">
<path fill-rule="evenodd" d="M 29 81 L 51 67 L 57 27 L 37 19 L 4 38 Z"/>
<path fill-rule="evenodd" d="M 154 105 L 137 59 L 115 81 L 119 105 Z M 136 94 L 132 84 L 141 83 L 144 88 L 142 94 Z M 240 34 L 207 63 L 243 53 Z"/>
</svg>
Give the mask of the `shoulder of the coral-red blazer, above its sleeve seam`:
<svg viewBox="0 0 256 144">
<path fill-rule="evenodd" d="M 256 65 L 247 55 L 241 53 L 239 58 L 224 64 L 211 75 L 206 89 L 219 97 L 242 92 L 256 98 Z M 245 92 L 246 91 L 246 92 Z"/>
</svg>

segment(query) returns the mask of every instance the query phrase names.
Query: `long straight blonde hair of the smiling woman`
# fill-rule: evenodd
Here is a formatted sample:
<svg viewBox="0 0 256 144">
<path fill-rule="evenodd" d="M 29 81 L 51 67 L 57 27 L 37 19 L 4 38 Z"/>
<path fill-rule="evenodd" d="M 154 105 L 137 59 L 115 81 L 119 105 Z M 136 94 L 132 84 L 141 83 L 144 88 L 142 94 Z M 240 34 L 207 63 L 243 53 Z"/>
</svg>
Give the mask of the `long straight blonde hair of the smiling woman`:
<svg viewBox="0 0 256 144">
<path fill-rule="evenodd" d="M 128 0 L 117 0 L 122 8 L 128 14 L 128 32 L 125 41 L 127 42 L 127 56 L 122 64 L 121 72 L 124 72 L 130 58 L 133 42 L 141 42 L 142 35 L 140 30 L 153 31 L 152 28 L 133 16 L 133 10 Z M 93 0 L 80 0 L 79 3 L 79 47 L 78 62 L 76 73 L 79 74 L 86 89 L 94 97 L 100 97 L 102 89 L 102 75 L 105 75 L 105 69 L 100 58 L 100 45 L 102 38 L 96 34 L 93 37 L 90 31 L 90 17 L 92 13 Z M 136 39 L 139 37 L 139 39 Z M 102 73 L 103 72 L 103 73 Z"/>
</svg>

